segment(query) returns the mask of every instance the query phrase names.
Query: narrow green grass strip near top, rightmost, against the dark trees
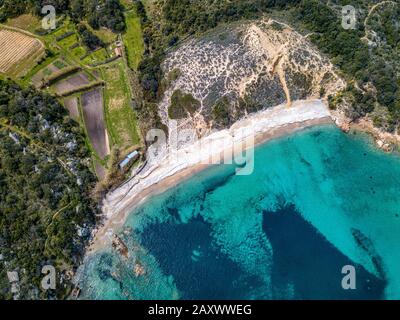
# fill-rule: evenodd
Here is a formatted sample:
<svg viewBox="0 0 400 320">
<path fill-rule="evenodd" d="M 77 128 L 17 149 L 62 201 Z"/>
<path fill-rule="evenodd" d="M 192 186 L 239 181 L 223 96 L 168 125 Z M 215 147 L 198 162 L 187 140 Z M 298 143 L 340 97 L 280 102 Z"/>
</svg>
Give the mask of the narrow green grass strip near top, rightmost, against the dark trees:
<svg viewBox="0 0 400 320">
<path fill-rule="evenodd" d="M 144 42 L 140 18 L 135 10 L 126 13 L 126 32 L 122 35 L 129 67 L 137 69 L 144 52 Z"/>
</svg>

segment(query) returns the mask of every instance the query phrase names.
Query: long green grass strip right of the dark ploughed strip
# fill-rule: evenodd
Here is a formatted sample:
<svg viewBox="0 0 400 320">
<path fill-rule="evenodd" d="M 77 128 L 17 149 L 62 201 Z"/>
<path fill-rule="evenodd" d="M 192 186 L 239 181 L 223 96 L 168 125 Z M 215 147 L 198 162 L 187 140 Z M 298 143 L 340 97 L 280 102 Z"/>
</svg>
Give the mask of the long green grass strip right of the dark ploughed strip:
<svg viewBox="0 0 400 320">
<path fill-rule="evenodd" d="M 111 143 L 125 150 L 140 143 L 136 115 L 130 105 L 128 79 L 122 60 L 102 69 L 106 122 Z"/>
</svg>

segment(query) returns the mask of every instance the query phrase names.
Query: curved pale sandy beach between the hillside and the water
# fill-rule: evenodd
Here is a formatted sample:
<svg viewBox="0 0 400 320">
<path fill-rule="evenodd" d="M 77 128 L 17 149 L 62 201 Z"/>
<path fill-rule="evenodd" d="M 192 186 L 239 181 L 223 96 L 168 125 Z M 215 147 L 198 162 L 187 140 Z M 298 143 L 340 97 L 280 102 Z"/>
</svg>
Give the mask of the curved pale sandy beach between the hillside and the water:
<svg viewBox="0 0 400 320">
<path fill-rule="evenodd" d="M 333 122 L 324 102 L 295 101 L 290 107 L 282 104 L 251 114 L 229 129 L 213 132 L 180 149 L 168 146 L 139 174 L 106 196 L 103 226 L 96 230 L 88 253 L 109 244 L 129 213 L 149 196 L 160 194 L 212 165 L 211 158 L 235 153 L 237 146 L 249 149 L 303 128 L 327 123 Z"/>
</svg>

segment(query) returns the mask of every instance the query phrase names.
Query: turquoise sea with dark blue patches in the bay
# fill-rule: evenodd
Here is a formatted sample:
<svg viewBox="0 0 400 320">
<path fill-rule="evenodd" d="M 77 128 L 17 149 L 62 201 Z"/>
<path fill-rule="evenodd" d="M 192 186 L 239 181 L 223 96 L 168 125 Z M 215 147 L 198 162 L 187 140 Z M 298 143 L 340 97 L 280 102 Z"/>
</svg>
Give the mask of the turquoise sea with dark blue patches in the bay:
<svg viewBox="0 0 400 320">
<path fill-rule="evenodd" d="M 129 258 L 90 256 L 81 297 L 400 298 L 398 155 L 325 125 L 257 147 L 254 166 L 214 166 L 135 209 L 119 234 Z"/>
</svg>

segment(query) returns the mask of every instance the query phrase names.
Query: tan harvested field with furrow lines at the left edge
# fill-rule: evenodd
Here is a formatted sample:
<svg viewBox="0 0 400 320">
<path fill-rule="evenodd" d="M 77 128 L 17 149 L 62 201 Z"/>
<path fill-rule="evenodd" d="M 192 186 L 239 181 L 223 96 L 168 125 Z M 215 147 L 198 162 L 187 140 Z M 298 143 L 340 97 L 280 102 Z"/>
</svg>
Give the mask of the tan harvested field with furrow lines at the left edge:
<svg viewBox="0 0 400 320">
<path fill-rule="evenodd" d="M 0 29 L 0 48 L 0 72 L 10 76 L 28 71 L 44 53 L 38 39 L 8 29 Z"/>
</svg>

